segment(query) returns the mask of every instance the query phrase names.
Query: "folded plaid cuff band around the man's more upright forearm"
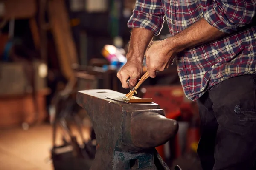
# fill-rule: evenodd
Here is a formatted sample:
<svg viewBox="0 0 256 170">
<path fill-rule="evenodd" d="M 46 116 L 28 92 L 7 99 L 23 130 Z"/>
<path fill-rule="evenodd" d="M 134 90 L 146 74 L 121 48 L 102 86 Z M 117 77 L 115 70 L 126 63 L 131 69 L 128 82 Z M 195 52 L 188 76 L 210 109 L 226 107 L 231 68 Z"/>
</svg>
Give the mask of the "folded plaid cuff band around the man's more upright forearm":
<svg viewBox="0 0 256 170">
<path fill-rule="evenodd" d="M 159 35 L 163 28 L 163 17 L 134 10 L 127 25 L 128 28 L 145 28 Z"/>
</svg>

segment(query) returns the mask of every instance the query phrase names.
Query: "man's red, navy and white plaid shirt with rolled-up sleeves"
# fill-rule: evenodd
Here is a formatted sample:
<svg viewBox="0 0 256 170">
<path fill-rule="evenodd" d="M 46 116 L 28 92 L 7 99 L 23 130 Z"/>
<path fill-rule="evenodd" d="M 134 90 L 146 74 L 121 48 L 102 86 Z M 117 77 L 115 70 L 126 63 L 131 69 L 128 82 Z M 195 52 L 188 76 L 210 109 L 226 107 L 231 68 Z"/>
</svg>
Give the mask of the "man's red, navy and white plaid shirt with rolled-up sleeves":
<svg viewBox="0 0 256 170">
<path fill-rule="evenodd" d="M 166 16 L 173 36 L 204 18 L 229 33 L 176 57 L 185 95 L 196 100 L 225 79 L 256 72 L 255 12 L 255 0 L 137 0 L 128 27 L 146 28 L 158 35 Z"/>
</svg>

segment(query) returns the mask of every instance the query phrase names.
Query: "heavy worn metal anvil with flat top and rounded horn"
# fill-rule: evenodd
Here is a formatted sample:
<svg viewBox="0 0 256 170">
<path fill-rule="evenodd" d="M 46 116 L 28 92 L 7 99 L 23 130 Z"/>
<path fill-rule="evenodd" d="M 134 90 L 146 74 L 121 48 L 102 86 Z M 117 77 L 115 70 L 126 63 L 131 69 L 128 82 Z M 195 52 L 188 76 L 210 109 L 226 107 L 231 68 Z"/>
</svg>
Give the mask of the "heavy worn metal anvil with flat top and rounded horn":
<svg viewBox="0 0 256 170">
<path fill-rule="evenodd" d="M 155 103 L 124 103 L 106 96 L 125 94 L 99 89 L 77 94 L 93 124 L 97 150 L 91 170 L 169 170 L 154 147 L 169 141 L 178 124 Z"/>
</svg>

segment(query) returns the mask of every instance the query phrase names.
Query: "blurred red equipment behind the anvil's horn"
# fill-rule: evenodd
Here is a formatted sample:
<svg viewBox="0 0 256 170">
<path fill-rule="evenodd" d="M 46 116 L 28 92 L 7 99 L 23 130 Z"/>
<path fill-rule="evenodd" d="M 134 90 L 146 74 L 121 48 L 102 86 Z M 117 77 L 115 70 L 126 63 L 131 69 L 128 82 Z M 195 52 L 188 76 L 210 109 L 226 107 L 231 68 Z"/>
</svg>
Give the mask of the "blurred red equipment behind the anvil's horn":
<svg viewBox="0 0 256 170">
<path fill-rule="evenodd" d="M 177 119 L 182 117 L 183 120 L 190 120 L 192 117 L 192 101 L 187 99 L 181 86 L 144 86 L 141 88 L 144 92 L 143 98 L 152 98 L 155 103 L 160 105 L 165 112 L 166 118 Z M 191 133 L 189 133 L 191 134 Z M 197 133 L 193 133 L 193 137 L 189 137 L 189 143 L 192 144 L 197 140 Z M 181 156 L 181 149 L 178 141 L 178 134 L 175 136 L 175 158 Z M 157 152 L 166 160 L 164 154 L 164 145 L 156 147 Z"/>
</svg>

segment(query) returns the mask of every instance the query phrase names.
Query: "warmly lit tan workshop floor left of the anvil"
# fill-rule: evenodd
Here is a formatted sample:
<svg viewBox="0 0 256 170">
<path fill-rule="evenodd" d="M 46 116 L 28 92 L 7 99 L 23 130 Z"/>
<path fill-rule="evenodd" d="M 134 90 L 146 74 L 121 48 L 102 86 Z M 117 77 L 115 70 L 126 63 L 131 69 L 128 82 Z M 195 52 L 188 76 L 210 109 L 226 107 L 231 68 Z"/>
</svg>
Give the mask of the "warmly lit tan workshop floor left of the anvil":
<svg viewBox="0 0 256 170">
<path fill-rule="evenodd" d="M 84 130 L 84 138 L 89 138 L 88 130 Z M 0 170 L 53 170 L 51 147 L 50 125 L 0 130 Z"/>
</svg>

